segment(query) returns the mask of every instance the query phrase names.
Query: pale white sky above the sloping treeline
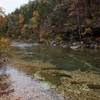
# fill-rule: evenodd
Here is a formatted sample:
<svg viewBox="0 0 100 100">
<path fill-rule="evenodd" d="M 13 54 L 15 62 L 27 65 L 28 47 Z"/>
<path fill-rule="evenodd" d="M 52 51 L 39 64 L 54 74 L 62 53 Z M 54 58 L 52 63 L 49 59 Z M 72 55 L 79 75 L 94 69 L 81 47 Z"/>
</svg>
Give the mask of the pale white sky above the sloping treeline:
<svg viewBox="0 0 100 100">
<path fill-rule="evenodd" d="M 0 0 L 0 7 L 3 7 L 5 13 L 8 14 L 28 1 L 29 0 Z"/>
</svg>

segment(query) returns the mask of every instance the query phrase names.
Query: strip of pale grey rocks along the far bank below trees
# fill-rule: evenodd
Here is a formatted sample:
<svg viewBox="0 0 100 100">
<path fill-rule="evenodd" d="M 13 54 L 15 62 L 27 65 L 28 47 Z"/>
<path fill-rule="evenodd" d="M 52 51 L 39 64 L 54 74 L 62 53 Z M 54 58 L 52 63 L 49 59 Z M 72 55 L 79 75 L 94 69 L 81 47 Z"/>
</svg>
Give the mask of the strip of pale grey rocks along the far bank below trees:
<svg viewBox="0 0 100 100">
<path fill-rule="evenodd" d="M 70 48 L 70 49 L 100 49 L 100 40 L 98 42 L 56 42 L 51 41 L 47 43 L 51 47 L 62 47 L 62 48 Z"/>
</svg>

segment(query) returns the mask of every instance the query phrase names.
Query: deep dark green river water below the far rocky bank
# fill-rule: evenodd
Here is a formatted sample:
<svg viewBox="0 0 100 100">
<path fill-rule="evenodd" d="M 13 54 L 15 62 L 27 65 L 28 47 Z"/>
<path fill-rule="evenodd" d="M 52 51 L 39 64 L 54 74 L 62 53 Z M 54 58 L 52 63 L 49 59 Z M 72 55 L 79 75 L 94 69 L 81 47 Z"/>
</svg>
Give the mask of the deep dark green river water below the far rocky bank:
<svg viewBox="0 0 100 100">
<path fill-rule="evenodd" d="M 95 70 L 100 71 L 100 51 L 51 48 L 43 45 L 33 45 L 31 48 L 16 50 L 20 59 L 25 61 L 42 60 L 65 70 Z"/>
</svg>

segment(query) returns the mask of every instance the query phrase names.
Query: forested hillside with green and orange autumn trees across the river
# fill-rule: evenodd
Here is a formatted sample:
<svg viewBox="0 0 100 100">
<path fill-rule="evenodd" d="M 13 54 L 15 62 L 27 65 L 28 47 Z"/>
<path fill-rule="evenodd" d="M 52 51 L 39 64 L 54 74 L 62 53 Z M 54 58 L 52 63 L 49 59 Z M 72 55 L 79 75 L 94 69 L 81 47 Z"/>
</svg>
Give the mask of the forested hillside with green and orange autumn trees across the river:
<svg viewBox="0 0 100 100">
<path fill-rule="evenodd" d="M 35 0 L 0 17 L 0 33 L 12 39 L 100 42 L 100 0 Z"/>
</svg>

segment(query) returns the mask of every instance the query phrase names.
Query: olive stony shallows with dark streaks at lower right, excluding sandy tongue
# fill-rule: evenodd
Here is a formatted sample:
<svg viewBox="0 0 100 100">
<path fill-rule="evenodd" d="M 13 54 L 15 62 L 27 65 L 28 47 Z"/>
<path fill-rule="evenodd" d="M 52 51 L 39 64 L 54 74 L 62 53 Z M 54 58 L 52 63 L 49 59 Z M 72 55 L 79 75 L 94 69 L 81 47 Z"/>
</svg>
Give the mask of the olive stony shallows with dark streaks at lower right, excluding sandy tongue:
<svg viewBox="0 0 100 100">
<path fill-rule="evenodd" d="M 45 70 L 39 77 L 56 86 L 65 100 L 99 100 L 100 75 L 95 72 Z"/>
</svg>

